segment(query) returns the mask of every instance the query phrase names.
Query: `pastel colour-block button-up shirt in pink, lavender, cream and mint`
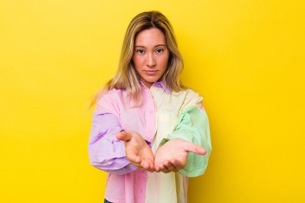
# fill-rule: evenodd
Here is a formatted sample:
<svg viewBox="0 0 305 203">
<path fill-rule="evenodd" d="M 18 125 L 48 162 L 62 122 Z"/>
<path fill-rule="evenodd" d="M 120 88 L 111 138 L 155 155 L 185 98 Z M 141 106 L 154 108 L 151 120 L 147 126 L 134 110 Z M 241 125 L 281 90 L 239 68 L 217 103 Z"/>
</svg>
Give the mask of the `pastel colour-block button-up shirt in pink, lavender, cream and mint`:
<svg viewBox="0 0 305 203">
<path fill-rule="evenodd" d="M 113 89 L 98 101 L 89 138 L 90 163 L 108 172 L 105 198 L 113 203 L 186 203 L 188 177 L 202 175 L 211 152 L 210 128 L 202 97 L 191 89 L 171 92 L 163 82 L 147 88 L 140 82 L 143 100 L 138 107 L 125 90 Z M 140 133 L 153 153 L 173 138 L 200 145 L 207 154 L 189 152 L 187 165 L 178 172 L 141 171 L 126 157 L 120 131 Z"/>
</svg>

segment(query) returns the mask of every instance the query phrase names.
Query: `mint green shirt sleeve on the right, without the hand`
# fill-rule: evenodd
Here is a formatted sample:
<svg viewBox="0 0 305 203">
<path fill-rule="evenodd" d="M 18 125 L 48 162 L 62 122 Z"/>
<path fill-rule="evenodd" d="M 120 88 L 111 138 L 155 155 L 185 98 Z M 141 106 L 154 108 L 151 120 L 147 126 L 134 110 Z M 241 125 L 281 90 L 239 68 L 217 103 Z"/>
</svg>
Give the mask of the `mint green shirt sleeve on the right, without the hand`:
<svg viewBox="0 0 305 203">
<path fill-rule="evenodd" d="M 212 148 L 209 120 L 203 107 L 201 110 L 195 106 L 186 107 L 179 116 L 177 128 L 167 138 L 161 141 L 159 147 L 173 138 L 187 140 L 207 150 L 207 153 L 203 156 L 189 152 L 187 165 L 178 172 L 188 177 L 196 177 L 204 174 L 208 166 Z"/>
</svg>

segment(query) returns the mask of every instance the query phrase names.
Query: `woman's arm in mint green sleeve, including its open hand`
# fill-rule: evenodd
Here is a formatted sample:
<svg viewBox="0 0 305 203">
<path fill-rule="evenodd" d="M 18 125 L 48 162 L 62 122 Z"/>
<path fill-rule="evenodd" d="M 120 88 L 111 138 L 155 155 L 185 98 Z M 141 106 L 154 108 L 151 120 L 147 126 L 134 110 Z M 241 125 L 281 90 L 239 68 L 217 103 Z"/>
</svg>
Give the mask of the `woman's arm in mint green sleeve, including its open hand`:
<svg viewBox="0 0 305 203">
<path fill-rule="evenodd" d="M 206 149 L 204 156 L 201 147 Z M 171 150 L 176 153 L 169 156 Z M 210 127 L 206 112 L 195 106 L 186 107 L 179 117 L 177 128 L 159 145 L 155 155 L 156 171 L 179 170 L 179 173 L 189 177 L 202 175 L 210 152 Z"/>
</svg>

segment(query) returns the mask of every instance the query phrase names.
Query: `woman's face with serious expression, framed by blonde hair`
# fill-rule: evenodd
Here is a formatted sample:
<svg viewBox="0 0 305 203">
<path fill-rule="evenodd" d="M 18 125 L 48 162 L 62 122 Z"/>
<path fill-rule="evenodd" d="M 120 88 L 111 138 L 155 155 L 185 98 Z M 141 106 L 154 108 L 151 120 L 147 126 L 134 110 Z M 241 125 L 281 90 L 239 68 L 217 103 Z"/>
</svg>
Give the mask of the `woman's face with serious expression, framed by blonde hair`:
<svg viewBox="0 0 305 203">
<path fill-rule="evenodd" d="M 165 36 L 159 29 L 143 30 L 135 37 L 133 64 L 146 87 L 162 80 L 169 57 Z"/>
</svg>

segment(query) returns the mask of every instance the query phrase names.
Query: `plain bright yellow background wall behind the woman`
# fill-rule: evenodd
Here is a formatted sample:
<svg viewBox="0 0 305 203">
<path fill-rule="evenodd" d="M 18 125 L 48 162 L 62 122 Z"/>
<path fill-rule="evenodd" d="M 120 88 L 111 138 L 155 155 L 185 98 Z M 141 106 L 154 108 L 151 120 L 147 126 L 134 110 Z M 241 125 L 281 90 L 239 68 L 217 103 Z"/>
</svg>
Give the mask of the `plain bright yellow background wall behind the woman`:
<svg viewBox="0 0 305 203">
<path fill-rule="evenodd" d="M 0 202 L 102 203 L 90 96 L 129 21 L 160 10 L 204 97 L 213 151 L 190 203 L 305 202 L 304 0 L 1 0 Z"/>
</svg>

